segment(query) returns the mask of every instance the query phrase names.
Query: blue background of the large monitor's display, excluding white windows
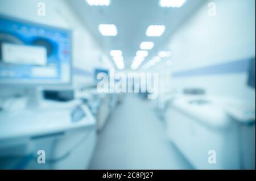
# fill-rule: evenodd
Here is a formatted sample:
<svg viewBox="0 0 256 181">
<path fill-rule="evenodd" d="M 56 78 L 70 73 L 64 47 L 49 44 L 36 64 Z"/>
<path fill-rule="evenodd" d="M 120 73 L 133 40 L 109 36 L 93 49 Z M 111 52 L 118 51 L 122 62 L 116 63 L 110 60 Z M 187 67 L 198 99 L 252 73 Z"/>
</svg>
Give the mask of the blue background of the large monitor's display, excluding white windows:
<svg viewBox="0 0 256 181">
<path fill-rule="evenodd" d="M 6 64 L 0 53 L 0 79 L 17 80 L 49 80 L 60 81 L 61 66 L 71 66 L 71 32 L 59 28 L 27 23 L 19 20 L 1 18 L 0 16 L 0 48 L 2 43 L 42 46 L 47 49 L 47 65 L 56 70 L 54 77 L 35 77 L 32 69 L 40 65 Z M 1 51 L 1 49 L 0 49 Z M 8 77 L 3 72 L 15 72 Z M 70 74 L 70 73 L 69 73 Z"/>
</svg>

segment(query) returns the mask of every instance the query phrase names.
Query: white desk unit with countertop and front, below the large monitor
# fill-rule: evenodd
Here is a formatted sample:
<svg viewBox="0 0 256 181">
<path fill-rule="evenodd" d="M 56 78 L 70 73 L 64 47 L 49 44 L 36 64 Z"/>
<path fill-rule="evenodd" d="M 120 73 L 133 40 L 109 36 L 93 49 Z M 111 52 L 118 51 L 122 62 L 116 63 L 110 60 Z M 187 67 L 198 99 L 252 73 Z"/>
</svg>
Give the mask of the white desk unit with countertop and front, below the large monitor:
<svg viewBox="0 0 256 181">
<path fill-rule="evenodd" d="M 55 107 L 50 110 L 49 107 Z M 84 116 L 72 120 L 79 106 Z M 79 101 L 44 103 L 38 110 L 21 114 L 0 113 L 0 167 L 3 169 L 88 169 L 96 146 L 96 121 Z M 39 163 L 40 151 L 45 163 Z M 39 152 L 38 152 L 39 151 Z M 3 162 L 5 161 L 5 162 Z"/>
</svg>

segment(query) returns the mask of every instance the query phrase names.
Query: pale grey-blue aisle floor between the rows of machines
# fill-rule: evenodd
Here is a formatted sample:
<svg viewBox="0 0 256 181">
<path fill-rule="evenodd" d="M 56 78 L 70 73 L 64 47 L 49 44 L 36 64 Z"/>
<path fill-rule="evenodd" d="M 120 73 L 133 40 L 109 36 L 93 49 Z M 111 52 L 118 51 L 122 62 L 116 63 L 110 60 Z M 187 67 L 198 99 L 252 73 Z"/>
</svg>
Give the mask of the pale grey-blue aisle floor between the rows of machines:
<svg viewBox="0 0 256 181">
<path fill-rule="evenodd" d="M 98 134 L 90 169 L 193 169 L 168 141 L 154 103 L 125 96 Z"/>
</svg>

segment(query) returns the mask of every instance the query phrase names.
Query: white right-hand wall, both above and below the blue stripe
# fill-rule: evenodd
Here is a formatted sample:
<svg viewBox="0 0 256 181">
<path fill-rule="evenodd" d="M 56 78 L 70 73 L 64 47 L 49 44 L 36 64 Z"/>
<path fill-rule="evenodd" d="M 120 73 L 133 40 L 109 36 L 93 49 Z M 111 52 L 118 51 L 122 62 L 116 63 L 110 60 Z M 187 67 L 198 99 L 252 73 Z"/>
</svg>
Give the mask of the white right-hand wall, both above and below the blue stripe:
<svg viewBox="0 0 256 181">
<path fill-rule="evenodd" d="M 209 2 L 216 3 L 217 16 L 208 15 Z M 163 64 L 161 71 L 171 69 L 175 73 L 255 56 L 255 1 L 206 2 L 176 31 L 169 46 L 173 64 Z M 167 83 L 177 89 L 202 87 L 210 95 L 255 101 L 255 90 L 247 87 L 246 81 L 247 73 L 230 73 L 173 77 L 172 80 L 170 77 Z"/>
</svg>

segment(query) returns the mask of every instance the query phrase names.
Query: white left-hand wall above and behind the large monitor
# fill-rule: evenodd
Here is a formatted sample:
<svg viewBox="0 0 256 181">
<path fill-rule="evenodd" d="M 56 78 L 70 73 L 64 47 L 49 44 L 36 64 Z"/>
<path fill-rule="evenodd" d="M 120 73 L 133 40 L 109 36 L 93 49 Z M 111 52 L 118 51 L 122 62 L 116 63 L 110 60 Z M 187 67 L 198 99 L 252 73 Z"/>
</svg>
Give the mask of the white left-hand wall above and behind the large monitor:
<svg viewBox="0 0 256 181">
<path fill-rule="evenodd" d="M 38 16 L 38 2 L 46 4 L 46 16 Z M 63 0 L 0 0 L 0 14 L 33 22 L 63 27 L 73 32 L 73 66 L 93 74 L 96 67 L 112 66 L 100 46 L 90 36 L 86 27 Z M 91 76 L 73 77 L 76 86 L 93 82 Z"/>
</svg>

